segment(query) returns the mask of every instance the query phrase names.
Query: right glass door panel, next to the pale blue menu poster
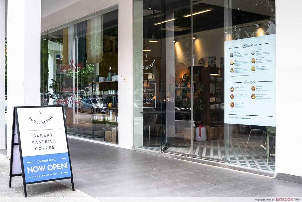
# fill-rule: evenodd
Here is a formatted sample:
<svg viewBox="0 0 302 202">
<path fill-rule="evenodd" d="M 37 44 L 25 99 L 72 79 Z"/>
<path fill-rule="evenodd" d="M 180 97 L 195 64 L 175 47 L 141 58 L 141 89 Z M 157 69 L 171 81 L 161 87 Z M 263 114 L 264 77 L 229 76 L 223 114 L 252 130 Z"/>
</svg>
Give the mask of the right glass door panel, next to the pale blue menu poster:
<svg viewBox="0 0 302 202">
<path fill-rule="evenodd" d="M 191 18 L 191 16 L 188 16 Z M 192 2 L 193 157 L 224 161 L 224 3 Z"/>
</svg>

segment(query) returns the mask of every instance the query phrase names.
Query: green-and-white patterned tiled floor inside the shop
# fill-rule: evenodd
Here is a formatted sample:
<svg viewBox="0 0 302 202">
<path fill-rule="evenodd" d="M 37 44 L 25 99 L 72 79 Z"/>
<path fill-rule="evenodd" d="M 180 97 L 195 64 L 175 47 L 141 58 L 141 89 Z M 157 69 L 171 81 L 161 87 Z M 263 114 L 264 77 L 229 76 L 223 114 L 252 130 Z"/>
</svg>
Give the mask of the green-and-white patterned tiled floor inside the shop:
<svg viewBox="0 0 302 202">
<path fill-rule="evenodd" d="M 256 168 L 265 171 L 275 171 L 275 156 L 271 155 L 267 164 L 266 151 L 263 148 L 259 150 L 261 136 L 251 135 L 246 153 L 244 153 L 247 138 L 247 135 L 230 138 L 230 164 L 236 164 L 239 166 Z M 175 145 L 186 145 L 188 146 L 188 148 L 168 147 L 167 151 L 176 151 L 185 154 L 191 154 L 191 141 L 184 141 L 183 137 L 180 137 L 178 140 L 176 138 L 176 140 L 172 141 L 172 143 Z M 150 144 L 156 144 L 155 140 L 152 140 Z M 161 151 L 162 149 L 162 147 L 143 148 L 155 151 Z M 224 139 L 211 141 L 194 141 L 193 155 L 224 160 L 224 149 Z"/>
</svg>

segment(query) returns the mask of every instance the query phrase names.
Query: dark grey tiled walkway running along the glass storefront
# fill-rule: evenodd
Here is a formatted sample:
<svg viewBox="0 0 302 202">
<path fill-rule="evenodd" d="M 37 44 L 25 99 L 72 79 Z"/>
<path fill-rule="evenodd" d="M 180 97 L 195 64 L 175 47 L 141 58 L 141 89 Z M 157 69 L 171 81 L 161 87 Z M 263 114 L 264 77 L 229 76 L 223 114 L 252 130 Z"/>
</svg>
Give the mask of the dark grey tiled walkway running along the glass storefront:
<svg viewBox="0 0 302 202">
<path fill-rule="evenodd" d="M 302 197 L 302 184 L 68 140 L 75 188 L 93 197 Z"/>
</svg>

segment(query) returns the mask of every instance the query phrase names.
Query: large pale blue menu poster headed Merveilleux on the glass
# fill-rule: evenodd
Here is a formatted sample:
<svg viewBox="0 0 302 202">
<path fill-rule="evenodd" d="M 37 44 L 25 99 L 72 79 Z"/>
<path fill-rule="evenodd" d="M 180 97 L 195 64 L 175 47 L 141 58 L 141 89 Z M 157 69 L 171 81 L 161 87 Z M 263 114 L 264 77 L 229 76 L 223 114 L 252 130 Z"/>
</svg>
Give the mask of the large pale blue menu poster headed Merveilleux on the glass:
<svg viewBox="0 0 302 202">
<path fill-rule="evenodd" d="M 275 126 L 275 34 L 224 45 L 225 123 Z"/>
</svg>

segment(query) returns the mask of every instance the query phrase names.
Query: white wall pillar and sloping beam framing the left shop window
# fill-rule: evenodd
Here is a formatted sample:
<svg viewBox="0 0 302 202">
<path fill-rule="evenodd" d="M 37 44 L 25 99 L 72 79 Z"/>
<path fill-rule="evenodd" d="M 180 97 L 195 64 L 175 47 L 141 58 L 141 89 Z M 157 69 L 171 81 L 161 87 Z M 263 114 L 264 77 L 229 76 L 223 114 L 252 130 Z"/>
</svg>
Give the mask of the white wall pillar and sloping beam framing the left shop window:
<svg viewBox="0 0 302 202">
<path fill-rule="evenodd" d="M 131 149 L 133 145 L 132 2 L 132 0 L 80 0 L 41 18 L 43 32 L 118 4 L 118 74 L 127 78 L 124 82 L 124 77 L 119 77 L 118 84 L 119 147 L 127 149 Z"/>
</svg>

